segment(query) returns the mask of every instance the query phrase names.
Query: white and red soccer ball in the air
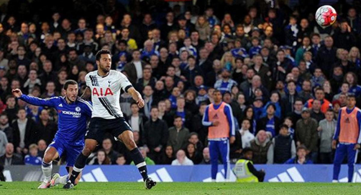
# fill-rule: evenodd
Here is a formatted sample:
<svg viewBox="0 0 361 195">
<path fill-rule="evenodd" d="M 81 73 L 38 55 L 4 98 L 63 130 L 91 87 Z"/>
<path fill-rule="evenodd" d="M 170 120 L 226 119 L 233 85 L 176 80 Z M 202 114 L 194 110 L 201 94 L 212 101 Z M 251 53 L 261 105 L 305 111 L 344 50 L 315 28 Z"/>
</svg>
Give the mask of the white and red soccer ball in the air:
<svg viewBox="0 0 361 195">
<path fill-rule="evenodd" d="M 315 18 L 319 26 L 327 27 L 336 21 L 337 13 L 332 6 L 323 5 L 317 9 Z"/>
</svg>

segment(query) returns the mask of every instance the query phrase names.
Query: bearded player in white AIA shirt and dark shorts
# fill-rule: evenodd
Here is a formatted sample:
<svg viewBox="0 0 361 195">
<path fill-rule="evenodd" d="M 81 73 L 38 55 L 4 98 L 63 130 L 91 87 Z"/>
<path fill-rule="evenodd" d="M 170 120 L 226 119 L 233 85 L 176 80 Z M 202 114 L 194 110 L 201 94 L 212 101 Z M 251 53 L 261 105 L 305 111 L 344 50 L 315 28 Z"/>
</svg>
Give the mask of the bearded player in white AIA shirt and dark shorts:
<svg viewBox="0 0 361 195">
<path fill-rule="evenodd" d="M 93 112 L 89 129 L 85 135 L 85 146 L 78 155 L 74 164 L 69 181 L 64 185 L 65 189 L 74 187 L 75 178 L 85 167 L 88 156 L 96 145 L 102 142 L 106 132 L 122 141 L 130 151 L 134 164 L 142 175 L 145 188 L 151 189 L 156 185 L 152 178 L 148 177 L 147 167 L 133 139 L 133 132 L 125 121 L 119 105 L 121 89 L 129 93 L 136 101 L 139 108 L 144 106 L 144 100 L 138 91 L 134 89 L 127 77 L 121 72 L 110 70 L 112 56 L 109 50 L 100 50 L 95 55 L 97 71 L 92 71 L 85 76 L 87 90 L 90 90 Z"/>
</svg>

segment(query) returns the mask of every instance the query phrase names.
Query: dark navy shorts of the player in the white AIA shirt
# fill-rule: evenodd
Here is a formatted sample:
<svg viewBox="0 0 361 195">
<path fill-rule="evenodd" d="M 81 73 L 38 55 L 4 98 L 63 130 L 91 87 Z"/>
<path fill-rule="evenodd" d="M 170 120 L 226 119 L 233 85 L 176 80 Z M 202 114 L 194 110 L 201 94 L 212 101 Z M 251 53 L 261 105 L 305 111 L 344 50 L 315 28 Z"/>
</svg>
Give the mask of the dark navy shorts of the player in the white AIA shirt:
<svg viewBox="0 0 361 195">
<path fill-rule="evenodd" d="M 90 120 L 90 125 L 87 133 L 85 134 L 85 139 L 96 140 L 98 144 L 101 144 L 104 139 L 105 133 L 109 132 L 114 137 L 118 138 L 118 136 L 124 131 L 131 130 L 132 128 L 123 117 L 114 119 L 94 117 Z"/>
</svg>

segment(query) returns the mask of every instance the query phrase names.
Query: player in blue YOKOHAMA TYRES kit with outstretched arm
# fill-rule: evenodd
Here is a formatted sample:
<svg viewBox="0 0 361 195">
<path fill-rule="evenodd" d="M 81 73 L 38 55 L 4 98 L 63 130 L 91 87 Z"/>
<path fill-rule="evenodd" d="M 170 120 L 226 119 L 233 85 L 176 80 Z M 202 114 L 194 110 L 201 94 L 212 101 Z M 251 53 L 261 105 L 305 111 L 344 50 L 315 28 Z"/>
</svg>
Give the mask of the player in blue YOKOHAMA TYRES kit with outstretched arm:
<svg viewBox="0 0 361 195">
<path fill-rule="evenodd" d="M 66 166 L 71 173 L 77 156 L 84 148 L 84 135 L 87 120 L 91 118 L 92 105 L 78 97 L 78 83 L 68 80 L 64 83 L 65 96 L 40 99 L 22 94 L 21 90 L 12 90 L 17 98 L 37 106 L 53 107 L 58 112 L 58 131 L 48 148 L 45 150 L 42 171 L 44 181 L 38 189 L 46 189 L 57 183 L 66 183 L 68 175 L 60 177 L 58 173 L 51 179 L 52 161 L 66 153 Z"/>
</svg>

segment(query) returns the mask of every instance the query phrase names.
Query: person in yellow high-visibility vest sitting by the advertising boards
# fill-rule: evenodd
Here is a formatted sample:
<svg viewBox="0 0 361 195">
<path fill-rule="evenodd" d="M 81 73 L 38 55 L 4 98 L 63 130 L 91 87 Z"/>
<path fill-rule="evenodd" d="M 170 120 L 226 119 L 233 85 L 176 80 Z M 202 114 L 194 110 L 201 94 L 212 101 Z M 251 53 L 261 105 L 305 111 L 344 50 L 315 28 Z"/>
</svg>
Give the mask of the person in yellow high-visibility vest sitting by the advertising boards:
<svg viewBox="0 0 361 195">
<path fill-rule="evenodd" d="M 243 158 L 236 162 L 233 172 L 237 177 L 237 182 L 263 182 L 265 171 L 261 169 L 257 171 L 253 166 L 253 151 L 251 148 L 243 149 Z"/>
</svg>

